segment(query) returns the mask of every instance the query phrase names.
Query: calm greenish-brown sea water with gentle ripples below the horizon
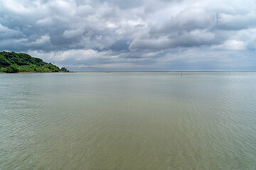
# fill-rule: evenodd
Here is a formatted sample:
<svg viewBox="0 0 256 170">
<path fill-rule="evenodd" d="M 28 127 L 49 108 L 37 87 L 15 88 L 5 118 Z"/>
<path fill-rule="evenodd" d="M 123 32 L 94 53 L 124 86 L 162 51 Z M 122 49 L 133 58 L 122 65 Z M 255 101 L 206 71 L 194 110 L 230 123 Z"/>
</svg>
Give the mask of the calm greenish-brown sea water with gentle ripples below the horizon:
<svg viewBox="0 0 256 170">
<path fill-rule="evenodd" d="M 0 169 L 256 169 L 256 72 L 0 74 Z"/>
</svg>

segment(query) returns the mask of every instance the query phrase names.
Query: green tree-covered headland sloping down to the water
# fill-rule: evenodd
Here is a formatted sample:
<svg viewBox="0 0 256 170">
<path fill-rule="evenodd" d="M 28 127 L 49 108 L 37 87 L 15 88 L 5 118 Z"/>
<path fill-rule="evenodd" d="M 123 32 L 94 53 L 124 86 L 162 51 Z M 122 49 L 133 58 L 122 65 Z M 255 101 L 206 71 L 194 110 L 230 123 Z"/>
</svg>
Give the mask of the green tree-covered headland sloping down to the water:
<svg viewBox="0 0 256 170">
<path fill-rule="evenodd" d="M 40 58 L 31 57 L 26 53 L 0 52 L 0 72 L 69 72 L 54 64 L 43 62 Z"/>
</svg>

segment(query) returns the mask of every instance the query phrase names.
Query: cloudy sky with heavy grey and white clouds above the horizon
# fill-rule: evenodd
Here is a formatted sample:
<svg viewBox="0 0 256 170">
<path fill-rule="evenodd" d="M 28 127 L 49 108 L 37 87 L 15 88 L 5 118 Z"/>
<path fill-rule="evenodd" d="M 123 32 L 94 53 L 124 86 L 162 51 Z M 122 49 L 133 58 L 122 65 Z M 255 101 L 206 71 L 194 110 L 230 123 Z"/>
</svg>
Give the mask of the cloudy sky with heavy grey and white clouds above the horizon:
<svg viewBox="0 0 256 170">
<path fill-rule="evenodd" d="M 255 0 L 0 0 L 0 51 L 72 71 L 249 71 L 255 49 Z"/>
</svg>

